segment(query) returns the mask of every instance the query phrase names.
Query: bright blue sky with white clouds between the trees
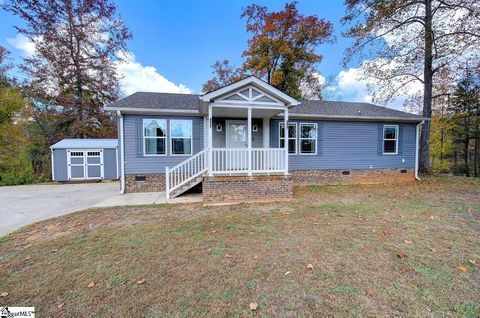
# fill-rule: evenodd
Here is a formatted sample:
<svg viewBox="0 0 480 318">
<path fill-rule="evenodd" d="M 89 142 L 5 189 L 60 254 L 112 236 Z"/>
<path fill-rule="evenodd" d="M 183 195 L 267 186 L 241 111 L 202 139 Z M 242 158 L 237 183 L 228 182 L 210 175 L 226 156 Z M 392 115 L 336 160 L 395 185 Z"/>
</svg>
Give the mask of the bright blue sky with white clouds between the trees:
<svg viewBox="0 0 480 318">
<path fill-rule="evenodd" d="M 240 14 L 242 8 L 251 3 L 240 0 L 117 1 L 119 13 L 134 36 L 128 43 L 132 54 L 129 63 L 119 65 L 126 93 L 200 93 L 202 84 L 212 76 L 210 66 L 216 60 L 226 58 L 240 65 L 249 38 Z M 280 10 L 285 1 L 255 3 Z M 305 15 L 316 15 L 334 24 L 336 43 L 318 48 L 324 56 L 318 66 L 319 73 L 336 79 L 333 99 L 368 101 L 365 84 L 356 78 L 358 65 L 352 64 L 346 69 L 341 65 L 343 52 L 351 43 L 341 36 L 343 1 L 300 1 L 298 8 Z M 33 49 L 13 27 L 21 21 L 3 11 L 0 21 L 0 44 L 12 52 L 15 63 L 20 63 L 21 57 Z"/>
</svg>

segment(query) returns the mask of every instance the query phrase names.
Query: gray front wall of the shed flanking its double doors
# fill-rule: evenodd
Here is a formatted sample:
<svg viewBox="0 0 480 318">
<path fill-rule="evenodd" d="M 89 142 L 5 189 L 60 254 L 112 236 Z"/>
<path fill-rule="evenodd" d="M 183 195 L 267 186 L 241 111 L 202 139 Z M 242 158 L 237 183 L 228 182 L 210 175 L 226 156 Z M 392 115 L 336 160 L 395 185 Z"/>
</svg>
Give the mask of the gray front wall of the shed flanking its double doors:
<svg viewBox="0 0 480 318">
<path fill-rule="evenodd" d="M 88 150 L 88 149 L 84 149 Z M 117 149 L 103 149 L 103 179 L 116 180 L 120 176 L 117 165 Z M 67 149 L 53 150 L 54 181 L 68 181 Z"/>
</svg>

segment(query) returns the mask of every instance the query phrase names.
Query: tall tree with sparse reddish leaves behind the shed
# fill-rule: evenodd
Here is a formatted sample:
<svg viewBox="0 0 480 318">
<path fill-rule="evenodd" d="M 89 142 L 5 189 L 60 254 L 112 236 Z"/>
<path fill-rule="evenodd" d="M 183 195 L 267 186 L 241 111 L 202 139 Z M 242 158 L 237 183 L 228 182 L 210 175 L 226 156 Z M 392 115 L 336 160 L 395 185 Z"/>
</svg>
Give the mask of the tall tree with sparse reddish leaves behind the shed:
<svg viewBox="0 0 480 318">
<path fill-rule="evenodd" d="M 102 106 L 117 99 L 114 60 L 131 34 L 110 0 L 10 0 L 16 29 L 35 44 L 26 58 L 25 94 L 34 111 L 55 113 L 63 137 L 114 135 Z"/>
</svg>

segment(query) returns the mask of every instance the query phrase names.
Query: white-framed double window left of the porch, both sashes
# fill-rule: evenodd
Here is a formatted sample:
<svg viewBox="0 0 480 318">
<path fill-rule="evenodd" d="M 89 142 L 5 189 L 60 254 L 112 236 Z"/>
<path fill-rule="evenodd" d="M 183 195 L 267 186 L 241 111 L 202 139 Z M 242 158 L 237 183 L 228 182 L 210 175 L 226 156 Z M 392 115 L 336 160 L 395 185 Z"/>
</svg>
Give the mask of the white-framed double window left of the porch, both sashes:
<svg viewBox="0 0 480 318">
<path fill-rule="evenodd" d="M 192 121 L 170 120 L 170 154 L 192 154 Z M 167 120 L 148 118 L 143 120 L 143 153 L 145 156 L 167 154 Z"/>
</svg>

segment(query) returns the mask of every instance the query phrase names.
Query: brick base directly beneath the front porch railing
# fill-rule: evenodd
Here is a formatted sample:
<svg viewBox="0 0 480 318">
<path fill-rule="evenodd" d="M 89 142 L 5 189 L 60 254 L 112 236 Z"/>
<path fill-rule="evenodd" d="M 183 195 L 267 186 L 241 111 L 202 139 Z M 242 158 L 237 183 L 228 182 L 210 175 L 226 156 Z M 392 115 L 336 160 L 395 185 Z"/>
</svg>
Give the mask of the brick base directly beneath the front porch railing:
<svg viewBox="0 0 480 318">
<path fill-rule="evenodd" d="M 203 179 L 205 204 L 275 201 L 292 197 L 291 176 L 215 176 Z"/>
</svg>

